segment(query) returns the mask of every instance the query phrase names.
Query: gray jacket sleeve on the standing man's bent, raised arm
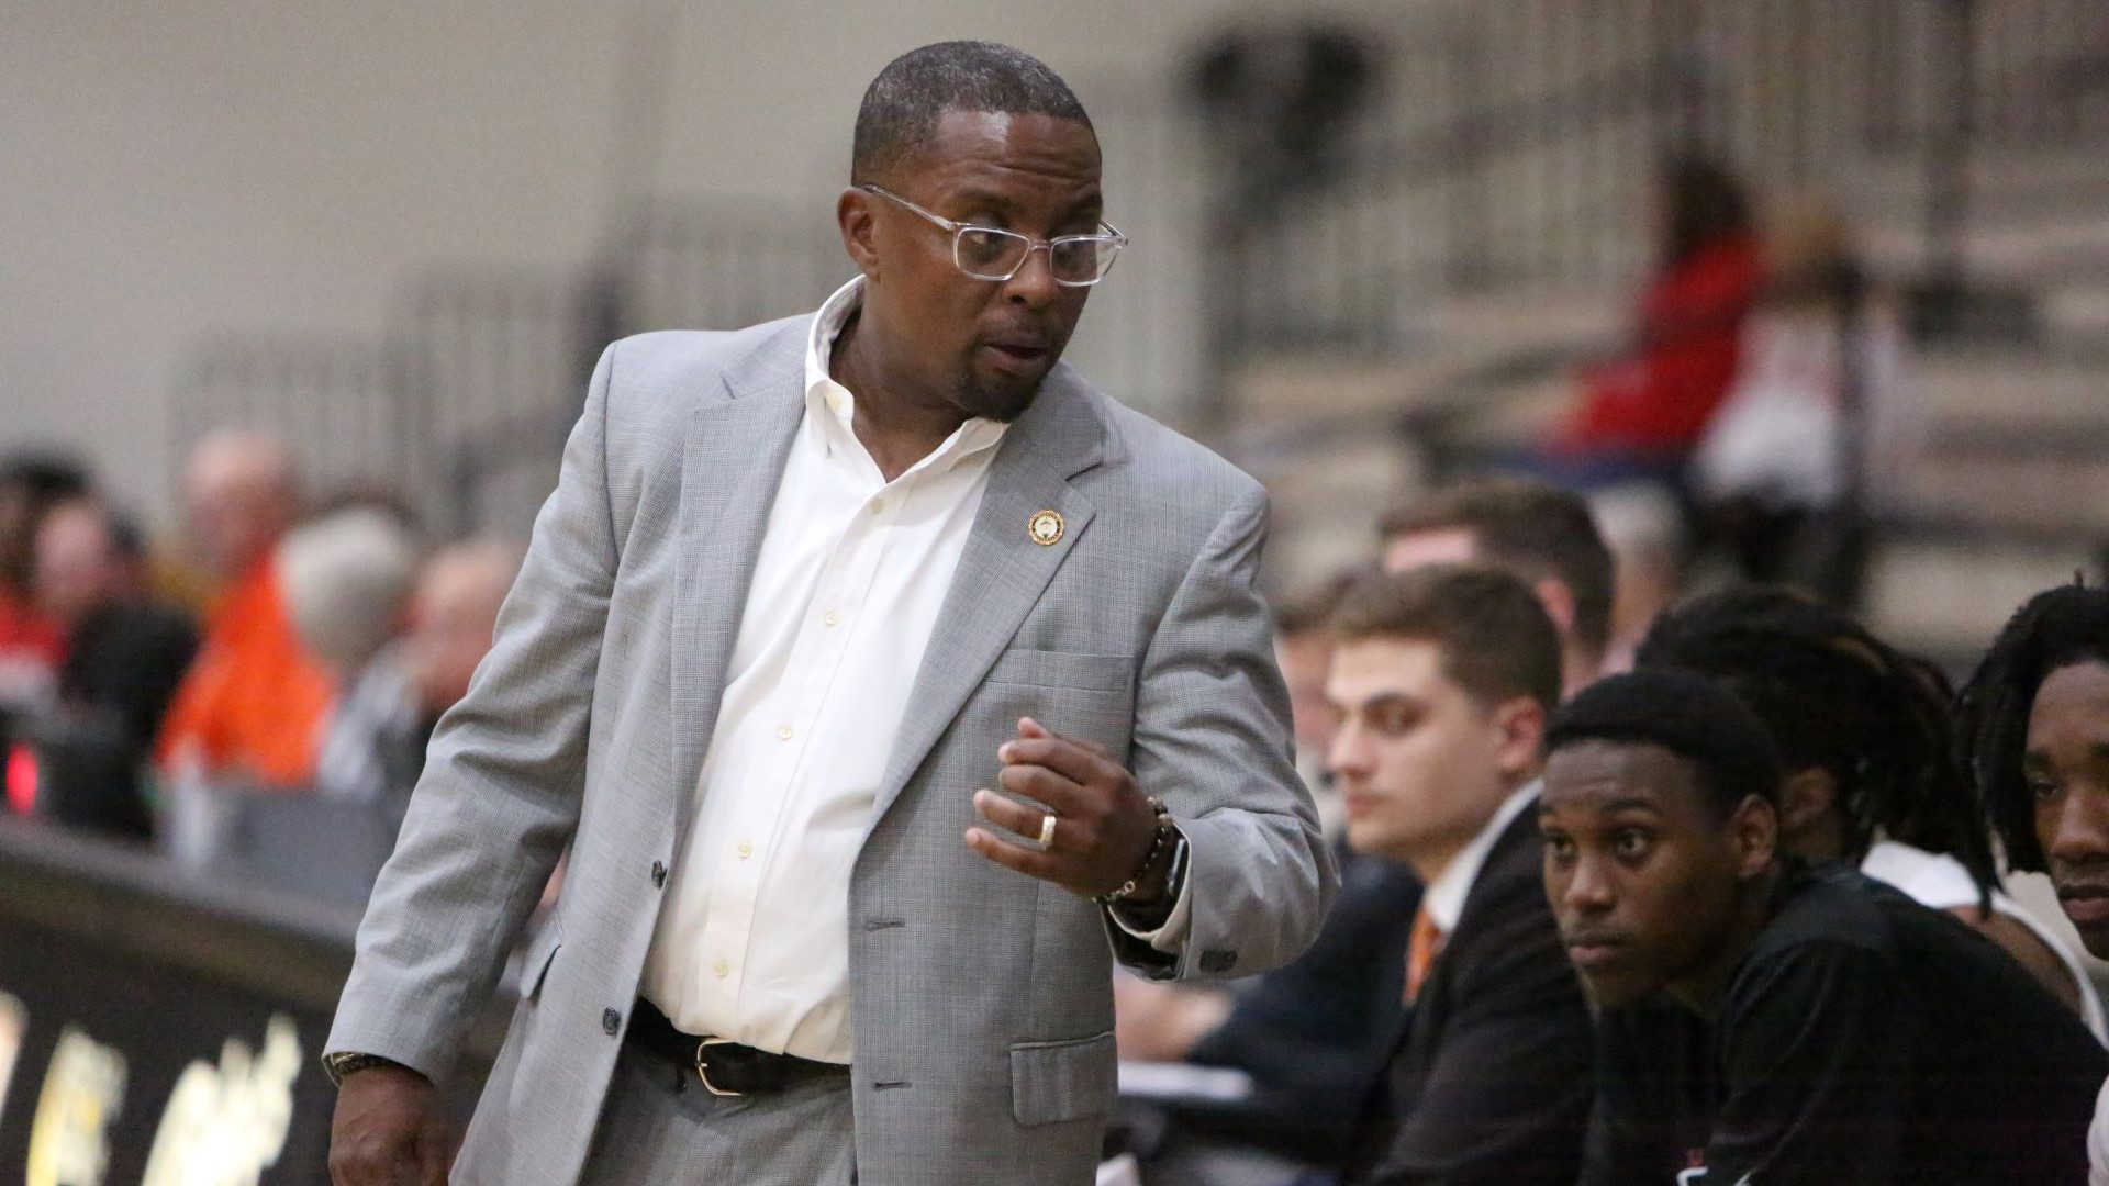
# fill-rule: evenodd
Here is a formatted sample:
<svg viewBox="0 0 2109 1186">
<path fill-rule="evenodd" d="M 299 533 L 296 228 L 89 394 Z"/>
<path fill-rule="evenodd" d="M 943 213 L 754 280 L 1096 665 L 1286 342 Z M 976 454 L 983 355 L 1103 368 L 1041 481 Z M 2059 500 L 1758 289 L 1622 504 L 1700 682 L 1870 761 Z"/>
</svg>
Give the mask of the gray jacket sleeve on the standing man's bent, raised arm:
<svg viewBox="0 0 2109 1186">
<path fill-rule="evenodd" d="M 1187 838 L 1192 929 L 1179 952 L 1107 924 L 1152 979 L 1251 975 L 1318 935 L 1337 888 L 1289 749 L 1289 694 L 1255 576 L 1268 496 L 1249 485 L 1194 557 L 1143 656 L 1135 781 Z"/>
</svg>

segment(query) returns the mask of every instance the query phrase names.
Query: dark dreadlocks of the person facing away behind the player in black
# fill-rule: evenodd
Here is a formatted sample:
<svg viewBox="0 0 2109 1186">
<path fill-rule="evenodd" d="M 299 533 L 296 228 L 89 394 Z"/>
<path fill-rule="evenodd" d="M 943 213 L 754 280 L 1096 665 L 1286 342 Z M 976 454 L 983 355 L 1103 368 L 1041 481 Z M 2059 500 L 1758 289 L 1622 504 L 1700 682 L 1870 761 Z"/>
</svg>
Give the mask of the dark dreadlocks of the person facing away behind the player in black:
<svg viewBox="0 0 2109 1186">
<path fill-rule="evenodd" d="M 1999 865 L 1951 749 L 1944 680 L 1843 610 L 1780 587 L 1746 587 L 1664 614 L 1639 667 L 1677 667 L 1731 688 L 1772 730 L 1788 772 L 1837 783 L 1845 855 L 1877 836 L 1944 853 L 1989 907 Z"/>
</svg>

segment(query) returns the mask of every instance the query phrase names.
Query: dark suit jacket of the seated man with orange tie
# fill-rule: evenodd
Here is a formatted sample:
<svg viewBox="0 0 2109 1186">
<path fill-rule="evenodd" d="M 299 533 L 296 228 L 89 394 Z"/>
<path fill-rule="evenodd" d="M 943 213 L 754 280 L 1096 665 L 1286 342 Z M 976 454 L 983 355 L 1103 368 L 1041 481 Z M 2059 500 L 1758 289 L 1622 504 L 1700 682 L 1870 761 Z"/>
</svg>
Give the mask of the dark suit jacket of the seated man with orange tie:
<svg viewBox="0 0 2109 1186">
<path fill-rule="evenodd" d="M 1590 1013 L 1546 905 L 1537 812 L 1502 831 L 1365 1104 L 1348 1182 L 1561 1184 L 1582 1169 Z"/>
</svg>

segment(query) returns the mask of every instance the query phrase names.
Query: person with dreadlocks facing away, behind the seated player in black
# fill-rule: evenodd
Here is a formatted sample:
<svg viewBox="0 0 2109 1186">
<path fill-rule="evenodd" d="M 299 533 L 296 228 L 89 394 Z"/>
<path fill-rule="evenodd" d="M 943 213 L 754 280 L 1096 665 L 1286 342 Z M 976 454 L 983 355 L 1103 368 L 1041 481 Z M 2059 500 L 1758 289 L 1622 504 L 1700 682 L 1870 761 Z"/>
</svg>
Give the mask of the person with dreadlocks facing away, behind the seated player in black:
<svg viewBox="0 0 2109 1186">
<path fill-rule="evenodd" d="M 1976 796 L 1951 755 L 1949 696 L 1843 610 L 1778 587 L 1731 589 L 1664 614 L 1643 669 L 1717 680 L 1772 732 L 1786 768 L 1780 846 L 1858 865 L 2008 950 L 2105 1034 L 2092 981 L 2035 916 L 1999 891 Z"/>
</svg>

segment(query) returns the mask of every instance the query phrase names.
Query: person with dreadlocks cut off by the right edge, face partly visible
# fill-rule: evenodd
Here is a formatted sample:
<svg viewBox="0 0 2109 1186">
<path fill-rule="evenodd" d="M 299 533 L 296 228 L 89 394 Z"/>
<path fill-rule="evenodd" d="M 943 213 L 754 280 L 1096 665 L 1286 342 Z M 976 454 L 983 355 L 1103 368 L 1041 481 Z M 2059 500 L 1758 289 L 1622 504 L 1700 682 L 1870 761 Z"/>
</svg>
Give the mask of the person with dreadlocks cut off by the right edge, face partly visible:
<svg viewBox="0 0 2109 1186">
<path fill-rule="evenodd" d="M 2014 869 L 2050 874 L 2079 941 L 2109 958 L 2109 591 L 2037 593 L 1961 694 L 1961 749 Z M 2088 1131 L 2109 1186 L 2109 1087 Z"/>
</svg>

